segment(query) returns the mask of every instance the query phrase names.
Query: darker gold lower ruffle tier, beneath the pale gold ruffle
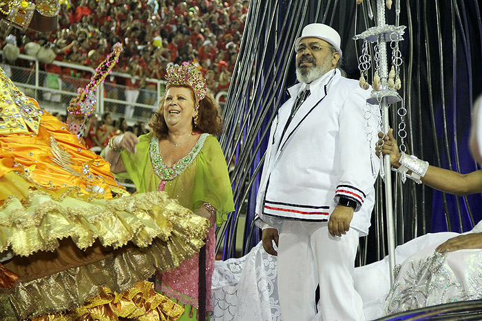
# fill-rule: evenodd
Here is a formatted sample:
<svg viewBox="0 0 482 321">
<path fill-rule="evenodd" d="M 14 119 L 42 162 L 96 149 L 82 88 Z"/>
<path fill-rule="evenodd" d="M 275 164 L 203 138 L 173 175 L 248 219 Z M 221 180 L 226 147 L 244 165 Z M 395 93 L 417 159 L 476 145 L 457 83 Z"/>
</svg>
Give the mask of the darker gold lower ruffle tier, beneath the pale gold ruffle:
<svg viewBox="0 0 482 321">
<path fill-rule="evenodd" d="M 102 261 L 82 265 L 29 282 L 0 294 L 0 320 L 19 320 L 70 310 L 101 294 L 101 287 L 123 292 L 139 280 L 167 270 L 198 252 L 202 241 L 176 229 L 169 242 L 154 239 L 148 247 L 132 247 Z"/>
</svg>

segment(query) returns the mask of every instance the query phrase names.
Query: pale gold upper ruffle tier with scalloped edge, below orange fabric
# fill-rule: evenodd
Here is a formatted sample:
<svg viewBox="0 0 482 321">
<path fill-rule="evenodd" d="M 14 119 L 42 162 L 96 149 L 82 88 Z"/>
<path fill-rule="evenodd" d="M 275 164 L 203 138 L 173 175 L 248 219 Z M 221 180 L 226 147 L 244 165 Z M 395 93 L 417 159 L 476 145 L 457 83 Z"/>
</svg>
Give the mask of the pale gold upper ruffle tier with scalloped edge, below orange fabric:
<svg viewBox="0 0 482 321">
<path fill-rule="evenodd" d="M 196 237 L 208 225 L 197 216 L 186 224 L 191 211 L 163 192 L 96 199 L 75 187 L 45 190 L 12 172 L 0 186 L 0 252 L 14 255 L 53 251 L 67 237 L 82 250 L 96 239 L 114 249 L 128 242 L 146 247 L 155 238 L 167 241 L 175 224 Z"/>
</svg>

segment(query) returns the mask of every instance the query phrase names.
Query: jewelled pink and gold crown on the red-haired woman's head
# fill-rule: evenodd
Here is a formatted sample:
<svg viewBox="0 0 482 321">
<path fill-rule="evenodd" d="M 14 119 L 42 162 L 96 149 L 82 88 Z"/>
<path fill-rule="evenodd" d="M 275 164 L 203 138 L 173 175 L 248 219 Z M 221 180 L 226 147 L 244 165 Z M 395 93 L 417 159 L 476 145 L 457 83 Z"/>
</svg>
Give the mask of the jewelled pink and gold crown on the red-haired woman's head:
<svg viewBox="0 0 482 321">
<path fill-rule="evenodd" d="M 193 63 L 185 61 L 181 65 L 168 65 L 166 74 L 167 87 L 188 85 L 193 89 L 196 101 L 200 102 L 206 97 L 206 79 Z"/>
</svg>

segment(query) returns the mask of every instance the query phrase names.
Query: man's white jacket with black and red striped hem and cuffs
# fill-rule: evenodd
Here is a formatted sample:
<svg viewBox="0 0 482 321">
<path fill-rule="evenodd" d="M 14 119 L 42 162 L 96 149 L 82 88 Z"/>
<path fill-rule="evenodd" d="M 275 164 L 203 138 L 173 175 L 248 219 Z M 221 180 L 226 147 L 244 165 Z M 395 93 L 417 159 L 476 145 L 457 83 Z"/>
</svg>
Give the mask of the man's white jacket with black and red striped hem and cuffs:
<svg viewBox="0 0 482 321">
<path fill-rule="evenodd" d="M 298 83 L 288 89 L 291 98 L 271 125 L 255 223 L 328 221 L 338 197 L 347 197 L 357 202 L 350 227 L 368 234 L 375 203 L 373 173 L 379 170 L 379 107 L 366 104 L 370 90 L 333 69 L 311 84 L 311 95 L 284 131 L 302 87 Z M 366 135 L 370 131 L 371 150 Z"/>
</svg>

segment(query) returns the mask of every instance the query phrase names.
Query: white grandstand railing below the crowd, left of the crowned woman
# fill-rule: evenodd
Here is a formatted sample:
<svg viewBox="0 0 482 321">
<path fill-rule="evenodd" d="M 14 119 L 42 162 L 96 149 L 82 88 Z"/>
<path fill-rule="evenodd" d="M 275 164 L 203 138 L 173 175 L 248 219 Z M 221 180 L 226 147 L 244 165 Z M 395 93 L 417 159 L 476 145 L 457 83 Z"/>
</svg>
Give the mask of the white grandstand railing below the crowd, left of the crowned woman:
<svg viewBox="0 0 482 321">
<path fill-rule="evenodd" d="M 0 54 L 1 54 L 0 50 Z M 21 61 L 24 60 L 24 61 Z M 27 61 L 25 61 L 27 60 Z M 19 67 L 19 66 L 29 67 Z M 42 63 L 32 56 L 20 54 L 17 65 L 1 64 L 14 84 L 28 96 L 36 99 L 43 109 L 66 113 L 70 100 L 77 95 L 77 89 L 85 87 L 94 75 L 94 68 L 56 61 L 52 65 L 70 71 L 68 74 L 52 74 L 41 70 Z M 147 78 L 146 85 L 126 87 L 118 85 L 121 78 L 131 78 L 139 83 L 138 77 L 112 72 L 96 90 L 96 113 L 111 112 L 114 118 L 124 117 L 127 122 L 145 121 L 158 109 L 157 102 L 165 91 L 165 80 Z"/>
</svg>

